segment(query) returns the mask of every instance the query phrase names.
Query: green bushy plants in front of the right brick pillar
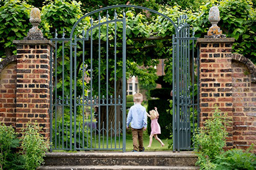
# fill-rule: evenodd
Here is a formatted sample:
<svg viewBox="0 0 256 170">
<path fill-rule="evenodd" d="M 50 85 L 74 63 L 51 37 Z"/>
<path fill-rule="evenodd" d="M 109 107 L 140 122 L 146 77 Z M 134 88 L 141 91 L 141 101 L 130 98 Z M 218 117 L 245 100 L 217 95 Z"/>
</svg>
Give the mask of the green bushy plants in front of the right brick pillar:
<svg viewBox="0 0 256 170">
<path fill-rule="evenodd" d="M 225 114 L 218 108 L 213 117 L 205 121 L 204 127 L 195 132 L 194 146 L 198 155 L 196 165 L 203 170 L 253 170 L 256 168 L 256 156 L 250 153 L 252 145 L 246 152 L 241 149 L 224 151 L 227 131 Z"/>
</svg>

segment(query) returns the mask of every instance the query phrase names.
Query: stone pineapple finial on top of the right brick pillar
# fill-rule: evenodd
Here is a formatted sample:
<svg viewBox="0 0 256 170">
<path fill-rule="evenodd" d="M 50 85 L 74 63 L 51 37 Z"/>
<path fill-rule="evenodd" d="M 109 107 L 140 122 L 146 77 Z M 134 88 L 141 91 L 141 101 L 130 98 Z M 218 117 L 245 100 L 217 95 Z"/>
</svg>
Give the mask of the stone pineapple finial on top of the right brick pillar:
<svg viewBox="0 0 256 170">
<path fill-rule="evenodd" d="M 223 35 L 222 30 L 217 26 L 220 21 L 219 8 L 217 6 L 212 6 L 210 8 L 208 20 L 212 26 L 209 28 L 205 38 L 225 38 L 226 35 Z"/>
</svg>

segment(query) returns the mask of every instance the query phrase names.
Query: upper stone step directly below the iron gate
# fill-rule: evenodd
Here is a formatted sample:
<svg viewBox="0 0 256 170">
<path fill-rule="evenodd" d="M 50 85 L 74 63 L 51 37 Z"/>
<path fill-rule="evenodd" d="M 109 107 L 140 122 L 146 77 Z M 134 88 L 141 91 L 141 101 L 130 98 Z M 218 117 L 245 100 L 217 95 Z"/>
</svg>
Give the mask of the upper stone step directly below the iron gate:
<svg viewBox="0 0 256 170">
<path fill-rule="evenodd" d="M 47 153 L 45 166 L 195 166 L 192 152 L 53 152 Z"/>
</svg>

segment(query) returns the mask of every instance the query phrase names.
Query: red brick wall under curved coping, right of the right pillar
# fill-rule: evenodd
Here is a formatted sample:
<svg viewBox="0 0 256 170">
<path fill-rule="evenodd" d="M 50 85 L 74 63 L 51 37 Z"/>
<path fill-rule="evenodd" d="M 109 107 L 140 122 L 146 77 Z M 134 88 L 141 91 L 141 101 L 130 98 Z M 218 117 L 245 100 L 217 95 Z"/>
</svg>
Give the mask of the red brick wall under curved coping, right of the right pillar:
<svg viewBox="0 0 256 170">
<path fill-rule="evenodd" d="M 232 71 L 234 147 L 246 149 L 256 144 L 256 83 L 240 61 L 232 60 Z"/>
</svg>

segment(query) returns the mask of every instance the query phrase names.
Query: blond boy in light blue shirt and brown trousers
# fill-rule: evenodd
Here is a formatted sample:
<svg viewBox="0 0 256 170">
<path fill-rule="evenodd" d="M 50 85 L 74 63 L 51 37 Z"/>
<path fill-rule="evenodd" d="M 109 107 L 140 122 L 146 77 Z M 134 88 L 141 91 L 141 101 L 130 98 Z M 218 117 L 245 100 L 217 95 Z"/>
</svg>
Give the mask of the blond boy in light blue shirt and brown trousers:
<svg viewBox="0 0 256 170">
<path fill-rule="evenodd" d="M 143 101 L 143 95 L 136 93 L 133 95 L 133 101 L 135 105 L 129 110 L 127 116 L 127 129 L 131 123 L 132 136 L 133 136 L 133 150 L 132 152 L 143 152 L 145 148 L 143 147 L 143 130 L 146 130 L 147 126 L 147 115 L 146 108 L 141 105 Z M 138 141 L 139 140 L 139 146 Z"/>
</svg>

